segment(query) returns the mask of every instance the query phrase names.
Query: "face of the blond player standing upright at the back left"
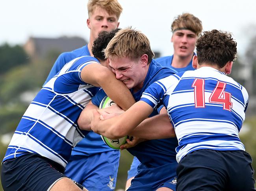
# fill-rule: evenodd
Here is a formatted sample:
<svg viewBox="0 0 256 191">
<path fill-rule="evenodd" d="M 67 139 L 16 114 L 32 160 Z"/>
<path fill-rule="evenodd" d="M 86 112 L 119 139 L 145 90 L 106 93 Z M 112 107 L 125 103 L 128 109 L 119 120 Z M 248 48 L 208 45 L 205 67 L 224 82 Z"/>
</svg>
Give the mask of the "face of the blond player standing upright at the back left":
<svg viewBox="0 0 256 191">
<path fill-rule="evenodd" d="M 118 18 L 116 15 L 109 15 L 105 9 L 97 7 L 93 13 L 89 15 L 87 19 L 87 26 L 90 31 L 90 35 L 95 39 L 100 31 L 112 31 L 119 26 Z"/>
</svg>

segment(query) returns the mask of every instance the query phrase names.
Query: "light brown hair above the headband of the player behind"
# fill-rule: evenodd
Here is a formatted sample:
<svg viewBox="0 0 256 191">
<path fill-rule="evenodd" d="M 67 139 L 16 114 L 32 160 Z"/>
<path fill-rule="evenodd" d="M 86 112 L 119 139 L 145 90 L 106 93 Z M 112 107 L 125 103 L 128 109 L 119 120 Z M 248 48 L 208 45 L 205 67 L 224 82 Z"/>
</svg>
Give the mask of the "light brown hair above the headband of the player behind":
<svg viewBox="0 0 256 191">
<path fill-rule="evenodd" d="M 190 13 L 183 13 L 174 19 L 171 30 L 174 31 L 178 28 L 189 29 L 190 31 L 196 33 L 197 36 L 200 35 L 203 29 L 202 22 L 199 20 L 199 18 Z"/>
</svg>

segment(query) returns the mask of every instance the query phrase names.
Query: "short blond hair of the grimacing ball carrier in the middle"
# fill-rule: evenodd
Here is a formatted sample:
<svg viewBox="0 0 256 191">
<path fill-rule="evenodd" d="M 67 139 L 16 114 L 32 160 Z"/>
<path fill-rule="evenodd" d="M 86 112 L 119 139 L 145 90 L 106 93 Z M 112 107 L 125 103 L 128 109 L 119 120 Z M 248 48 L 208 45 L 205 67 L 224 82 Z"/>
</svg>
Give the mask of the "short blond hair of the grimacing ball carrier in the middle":
<svg viewBox="0 0 256 191">
<path fill-rule="evenodd" d="M 154 58 L 154 53 L 150 48 L 150 42 L 146 35 L 131 29 L 122 29 L 110 40 L 104 50 L 106 58 L 121 58 L 126 56 L 130 59 L 137 59 L 143 54 L 148 55 L 148 64 Z"/>
</svg>

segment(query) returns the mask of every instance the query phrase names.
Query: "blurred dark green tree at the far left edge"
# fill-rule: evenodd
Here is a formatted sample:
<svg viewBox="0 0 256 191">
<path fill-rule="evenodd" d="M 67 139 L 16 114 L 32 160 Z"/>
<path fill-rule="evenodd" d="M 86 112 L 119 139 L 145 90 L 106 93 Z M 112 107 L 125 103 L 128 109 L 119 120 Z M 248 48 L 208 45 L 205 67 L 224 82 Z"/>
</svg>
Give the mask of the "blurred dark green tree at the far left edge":
<svg viewBox="0 0 256 191">
<path fill-rule="evenodd" d="M 20 45 L 11 47 L 8 44 L 0 46 L 0 75 L 17 65 L 27 63 L 28 55 Z"/>
</svg>

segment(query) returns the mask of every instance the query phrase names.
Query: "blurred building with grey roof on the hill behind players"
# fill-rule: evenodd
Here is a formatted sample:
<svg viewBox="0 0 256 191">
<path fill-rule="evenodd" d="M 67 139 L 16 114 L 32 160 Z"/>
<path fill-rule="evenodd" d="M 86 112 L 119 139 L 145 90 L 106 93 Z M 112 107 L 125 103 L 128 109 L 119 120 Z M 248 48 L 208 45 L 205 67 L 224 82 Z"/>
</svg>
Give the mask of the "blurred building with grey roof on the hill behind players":
<svg viewBox="0 0 256 191">
<path fill-rule="evenodd" d="M 30 37 L 24 45 L 26 53 L 31 58 L 45 58 L 50 51 L 68 52 L 86 45 L 80 37 L 36 38 Z"/>
</svg>

